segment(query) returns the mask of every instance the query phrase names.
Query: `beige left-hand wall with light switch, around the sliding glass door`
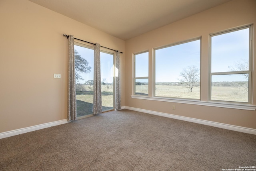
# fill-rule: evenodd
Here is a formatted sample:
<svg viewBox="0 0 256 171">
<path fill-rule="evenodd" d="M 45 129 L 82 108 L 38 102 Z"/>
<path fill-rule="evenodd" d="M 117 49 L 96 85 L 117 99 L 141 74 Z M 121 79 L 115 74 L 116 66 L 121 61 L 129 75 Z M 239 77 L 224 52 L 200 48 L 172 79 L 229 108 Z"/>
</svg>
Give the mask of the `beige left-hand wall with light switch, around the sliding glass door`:
<svg viewBox="0 0 256 171">
<path fill-rule="evenodd" d="M 125 50 L 123 40 L 30 1 L 0 1 L 0 132 L 66 119 L 68 41 L 63 33 Z M 124 55 L 120 63 L 124 78 Z M 121 96 L 124 106 L 124 88 Z"/>
</svg>

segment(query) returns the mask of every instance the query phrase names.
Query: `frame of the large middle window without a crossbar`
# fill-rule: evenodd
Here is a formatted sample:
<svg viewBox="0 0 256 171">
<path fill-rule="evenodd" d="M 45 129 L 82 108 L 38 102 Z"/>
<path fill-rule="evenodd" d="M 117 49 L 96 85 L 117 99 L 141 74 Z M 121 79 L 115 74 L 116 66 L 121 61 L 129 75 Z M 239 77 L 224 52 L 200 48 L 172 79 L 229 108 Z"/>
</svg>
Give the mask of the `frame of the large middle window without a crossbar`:
<svg viewBox="0 0 256 171">
<path fill-rule="evenodd" d="M 176 45 L 181 45 L 181 44 L 184 44 L 184 43 L 189 43 L 189 42 L 192 42 L 192 41 L 197 41 L 197 40 L 200 40 L 200 59 L 199 59 L 199 62 L 200 62 L 200 73 L 199 73 L 199 80 L 200 80 L 200 83 L 199 83 L 199 86 L 200 86 L 200 95 L 199 95 L 199 98 L 179 98 L 179 97 L 172 97 L 172 96 L 156 96 L 156 50 L 158 49 L 164 49 L 164 48 L 167 48 L 167 47 L 172 47 L 172 46 L 176 46 Z M 195 37 L 195 38 L 192 38 L 192 39 L 187 39 L 187 40 L 184 40 L 184 41 L 179 41 L 179 42 L 176 42 L 176 43 L 172 43 L 172 44 L 169 44 L 169 45 L 164 45 L 164 46 L 160 46 L 160 47 L 156 47 L 153 49 L 153 97 L 155 98 L 163 98 L 163 99 L 173 99 L 173 100 L 192 100 L 192 101 L 200 101 L 201 100 L 201 60 L 202 60 L 202 37 Z"/>
</svg>

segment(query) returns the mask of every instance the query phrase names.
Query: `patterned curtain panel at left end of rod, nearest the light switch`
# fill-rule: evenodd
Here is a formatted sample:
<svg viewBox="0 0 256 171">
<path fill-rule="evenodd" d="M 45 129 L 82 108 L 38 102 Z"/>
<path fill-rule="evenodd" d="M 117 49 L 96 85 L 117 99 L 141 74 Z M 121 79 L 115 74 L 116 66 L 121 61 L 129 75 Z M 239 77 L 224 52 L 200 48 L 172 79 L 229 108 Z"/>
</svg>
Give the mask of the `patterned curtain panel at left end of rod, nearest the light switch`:
<svg viewBox="0 0 256 171">
<path fill-rule="evenodd" d="M 68 122 L 76 120 L 76 78 L 74 36 L 68 35 Z"/>
</svg>

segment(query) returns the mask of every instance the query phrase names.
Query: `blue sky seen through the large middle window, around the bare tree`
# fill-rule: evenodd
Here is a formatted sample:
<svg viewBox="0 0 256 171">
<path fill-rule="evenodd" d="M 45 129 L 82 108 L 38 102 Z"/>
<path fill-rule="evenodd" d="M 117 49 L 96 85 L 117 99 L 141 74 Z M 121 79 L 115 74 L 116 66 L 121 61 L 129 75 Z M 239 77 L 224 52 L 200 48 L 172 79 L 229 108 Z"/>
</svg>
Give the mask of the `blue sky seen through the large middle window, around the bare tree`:
<svg viewBox="0 0 256 171">
<path fill-rule="evenodd" d="M 184 68 L 195 65 L 200 69 L 200 40 L 156 49 L 156 83 L 178 82 Z"/>
</svg>

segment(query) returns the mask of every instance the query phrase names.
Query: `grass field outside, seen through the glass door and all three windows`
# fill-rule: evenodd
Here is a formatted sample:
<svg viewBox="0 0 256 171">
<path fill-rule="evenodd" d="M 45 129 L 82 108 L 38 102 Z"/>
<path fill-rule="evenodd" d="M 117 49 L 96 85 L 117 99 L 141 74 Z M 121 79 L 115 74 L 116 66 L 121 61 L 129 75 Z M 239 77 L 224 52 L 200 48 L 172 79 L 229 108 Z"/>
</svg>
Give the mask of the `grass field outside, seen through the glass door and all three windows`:
<svg viewBox="0 0 256 171">
<path fill-rule="evenodd" d="M 80 85 L 76 91 L 77 116 L 92 114 L 93 86 Z M 136 94 L 148 95 L 148 85 L 136 85 Z M 192 92 L 183 86 L 156 85 L 156 96 L 200 99 L 200 87 Z M 248 102 L 248 93 L 244 88 L 234 86 L 213 86 L 212 100 Z M 102 85 L 102 111 L 114 109 L 113 86 Z"/>
</svg>

